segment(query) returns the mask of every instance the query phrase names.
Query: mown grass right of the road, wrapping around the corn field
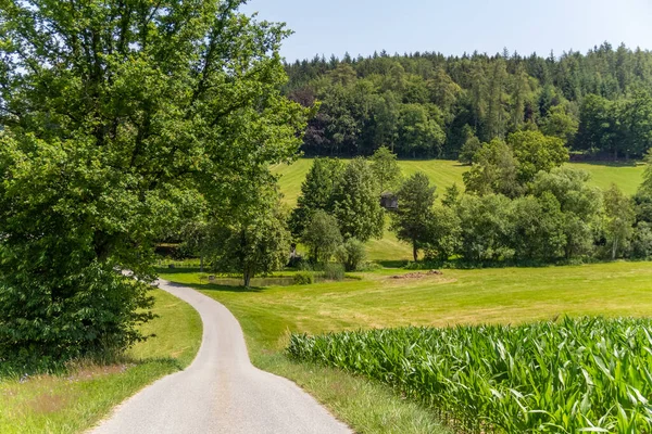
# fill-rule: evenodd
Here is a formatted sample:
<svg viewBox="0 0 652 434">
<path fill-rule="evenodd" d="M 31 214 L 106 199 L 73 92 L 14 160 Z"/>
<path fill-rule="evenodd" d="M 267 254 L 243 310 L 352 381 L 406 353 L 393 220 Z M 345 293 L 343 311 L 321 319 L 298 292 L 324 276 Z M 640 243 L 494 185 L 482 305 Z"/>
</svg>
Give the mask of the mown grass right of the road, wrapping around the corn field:
<svg viewBox="0 0 652 434">
<path fill-rule="evenodd" d="M 188 270 L 190 271 L 190 270 Z M 361 433 L 444 432 L 426 408 L 387 386 L 286 358 L 290 332 L 405 326 L 523 323 L 559 316 L 650 316 L 652 264 L 446 270 L 393 279 L 405 270 L 360 273 L 362 280 L 251 290 L 200 284 L 197 272 L 162 277 L 223 303 L 240 321 L 252 361 L 287 376 Z"/>
</svg>

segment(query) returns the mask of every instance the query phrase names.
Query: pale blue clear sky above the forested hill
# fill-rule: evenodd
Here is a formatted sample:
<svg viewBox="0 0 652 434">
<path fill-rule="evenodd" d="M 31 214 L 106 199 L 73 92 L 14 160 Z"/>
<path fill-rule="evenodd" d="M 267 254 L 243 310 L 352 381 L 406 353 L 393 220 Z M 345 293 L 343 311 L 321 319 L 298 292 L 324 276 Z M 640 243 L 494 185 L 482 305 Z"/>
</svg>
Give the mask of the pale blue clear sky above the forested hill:
<svg viewBox="0 0 652 434">
<path fill-rule="evenodd" d="M 281 51 L 290 62 L 383 49 L 548 55 L 605 40 L 652 49 L 652 0 L 249 0 L 242 11 L 294 30 Z"/>
</svg>

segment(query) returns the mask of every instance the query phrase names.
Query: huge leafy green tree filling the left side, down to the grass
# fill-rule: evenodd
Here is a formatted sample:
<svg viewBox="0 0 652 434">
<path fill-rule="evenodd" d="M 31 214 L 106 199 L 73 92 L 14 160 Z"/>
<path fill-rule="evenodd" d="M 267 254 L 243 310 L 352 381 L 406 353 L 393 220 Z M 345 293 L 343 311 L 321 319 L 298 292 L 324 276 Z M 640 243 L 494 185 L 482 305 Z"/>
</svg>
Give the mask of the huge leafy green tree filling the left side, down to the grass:
<svg viewBox="0 0 652 434">
<path fill-rule="evenodd" d="M 288 31 L 241 3 L 0 2 L 0 358 L 138 340 L 162 228 L 248 208 L 296 155 Z"/>
</svg>

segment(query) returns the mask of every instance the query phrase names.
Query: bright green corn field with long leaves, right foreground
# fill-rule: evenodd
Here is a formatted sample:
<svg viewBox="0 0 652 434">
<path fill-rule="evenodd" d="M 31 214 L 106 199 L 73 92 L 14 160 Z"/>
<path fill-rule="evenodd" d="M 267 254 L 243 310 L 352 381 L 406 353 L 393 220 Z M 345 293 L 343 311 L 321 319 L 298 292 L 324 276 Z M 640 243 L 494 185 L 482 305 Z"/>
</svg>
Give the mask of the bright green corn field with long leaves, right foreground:
<svg viewBox="0 0 652 434">
<path fill-rule="evenodd" d="M 652 433 L 652 320 L 293 334 L 296 360 L 363 374 L 464 433 Z"/>
</svg>

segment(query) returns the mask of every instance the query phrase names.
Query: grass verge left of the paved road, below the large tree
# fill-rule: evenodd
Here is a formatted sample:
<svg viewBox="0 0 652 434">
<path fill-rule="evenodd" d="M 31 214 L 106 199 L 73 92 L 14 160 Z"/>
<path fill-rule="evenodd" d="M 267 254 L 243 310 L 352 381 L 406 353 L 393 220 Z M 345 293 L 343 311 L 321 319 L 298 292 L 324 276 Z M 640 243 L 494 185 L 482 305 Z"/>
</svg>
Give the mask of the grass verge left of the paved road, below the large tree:
<svg viewBox="0 0 652 434">
<path fill-rule="evenodd" d="M 160 318 L 142 330 L 156 336 L 136 344 L 124 362 L 79 363 L 65 374 L 0 379 L 0 432 L 82 432 L 154 380 L 187 367 L 201 345 L 199 314 L 164 291 L 152 294 Z"/>
</svg>

